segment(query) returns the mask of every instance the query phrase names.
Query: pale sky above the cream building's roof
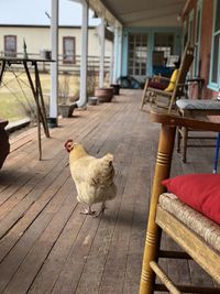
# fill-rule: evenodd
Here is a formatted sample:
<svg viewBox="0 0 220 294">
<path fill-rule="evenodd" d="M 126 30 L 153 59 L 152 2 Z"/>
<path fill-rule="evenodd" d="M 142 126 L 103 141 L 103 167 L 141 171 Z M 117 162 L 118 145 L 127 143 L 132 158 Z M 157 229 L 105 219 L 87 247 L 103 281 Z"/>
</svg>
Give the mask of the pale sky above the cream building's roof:
<svg viewBox="0 0 220 294">
<path fill-rule="evenodd" d="M 51 15 L 51 0 L 0 0 L 0 24 L 48 24 Z M 89 25 L 97 25 L 99 20 L 92 19 L 89 12 Z M 59 0 L 59 24 L 80 25 L 81 4 Z"/>
</svg>

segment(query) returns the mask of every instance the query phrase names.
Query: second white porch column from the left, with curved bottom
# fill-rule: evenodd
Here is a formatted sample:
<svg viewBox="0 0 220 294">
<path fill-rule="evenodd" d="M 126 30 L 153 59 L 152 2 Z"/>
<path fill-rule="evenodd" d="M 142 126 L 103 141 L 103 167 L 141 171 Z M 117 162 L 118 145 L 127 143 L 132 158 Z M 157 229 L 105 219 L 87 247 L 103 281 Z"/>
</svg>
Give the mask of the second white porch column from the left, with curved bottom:
<svg viewBox="0 0 220 294">
<path fill-rule="evenodd" d="M 80 94 L 77 107 L 86 107 L 87 104 L 87 55 L 88 55 L 88 2 L 80 1 L 82 6 L 81 25 L 81 64 L 80 64 Z"/>
</svg>

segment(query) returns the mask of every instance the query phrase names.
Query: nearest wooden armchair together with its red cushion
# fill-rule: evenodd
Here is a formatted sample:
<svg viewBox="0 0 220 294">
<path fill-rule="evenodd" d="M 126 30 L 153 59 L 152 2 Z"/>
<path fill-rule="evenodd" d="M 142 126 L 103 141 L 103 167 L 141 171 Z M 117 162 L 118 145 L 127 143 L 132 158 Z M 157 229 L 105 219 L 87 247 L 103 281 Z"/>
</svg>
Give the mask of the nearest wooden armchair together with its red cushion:
<svg viewBox="0 0 220 294">
<path fill-rule="evenodd" d="M 161 132 L 152 184 L 140 294 L 158 293 L 158 291 L 172 294 L 219 294 L 220 287 L 217 284 L 220 284 L 220 227 L 217 225 L 219 222 L 209 219 L 209 217 L 218 219 L 219 216 L 219 175 L 209 174 L 209 178 L 208 174 L 180 175 L 180 178 L 178 176 L 172 178 L 169 175 L 176 128 L 220 132 L 220 124 L 204 119 L 170 116 L 161 110 L 152 110 L 150 118 L 151 121 L 161 123 Z M 199 188 L 196 183 L 200 183 L 200 177 L 208 182 L 205 183 L 204 179 Z M 204 193 L 204 184 L 207 193 Z M 167 194 L 166 190 L 173 190 L 173 194 Z M 185 204 L 189 199 L 188 204 L 195 209 Z M 210 199 L 212 202 L 209 202 Z M 168 236 L 180 250 L 173 250 L 172 247 L 164 250 L 162 232 Z M 182 284 L 182 280 L 172 281 L 166 264 L 164 266 L 160 263 L 164 259 L 167 262 L 169 259 L 179 261 L 191 259 L 215 280 L 215 283 L 197 284 L 191 280 L 191 284 L 188 285 Z"/>
</svg>

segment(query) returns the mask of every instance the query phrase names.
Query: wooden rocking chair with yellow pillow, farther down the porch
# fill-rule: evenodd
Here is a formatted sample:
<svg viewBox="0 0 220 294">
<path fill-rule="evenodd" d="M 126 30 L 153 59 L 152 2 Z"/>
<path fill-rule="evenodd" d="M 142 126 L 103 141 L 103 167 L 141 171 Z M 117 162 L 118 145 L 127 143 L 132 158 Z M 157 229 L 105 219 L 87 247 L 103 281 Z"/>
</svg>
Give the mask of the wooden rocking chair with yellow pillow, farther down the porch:
<svg viewBox="0 0 220 294">
<path fill-rule="evenodd" d="M 166 89 L 151 87 L 151 79 L 146 79 L 142 95 L 141 109 L 145 104 L 156 102 L 158 106 L 168 108 L 168 113 L 170 113 L 172 107 L 175 105 L 176 99 L 185 95 L 184 90 L 186 86 L 186 77 L 193 61 L 194 48 L 187 44 L 182 58 L 180 67 L 179 69 L 175 69 L 176 72 L 174 70 L 175 77 L 170 79 L 170 83 Z M 160 80 L 163 79 L 161 76 L 158 78 Z M 165 98 L 165 104 L 157 102 L 156 100 L 158 97 Z"/>
</svg>

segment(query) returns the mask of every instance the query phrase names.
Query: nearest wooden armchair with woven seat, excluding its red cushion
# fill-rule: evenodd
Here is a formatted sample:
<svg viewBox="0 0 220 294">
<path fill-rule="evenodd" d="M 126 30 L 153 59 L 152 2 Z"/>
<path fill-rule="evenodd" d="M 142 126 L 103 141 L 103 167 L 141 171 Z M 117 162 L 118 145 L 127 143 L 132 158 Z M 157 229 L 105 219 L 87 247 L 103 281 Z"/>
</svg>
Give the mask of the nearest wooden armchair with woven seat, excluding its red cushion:
<svg viewBox="0 0 220 294">
<path fill-rule="evenodd" d="M 151 120 L 161 123 L 158 151 L 152 187 L 146 230 L 140 294 L 155 291 L 169 293 L 220 293 L 220 288 L 194 285 L 175 285 L 158 265 L 161 258 L 194 259 L 207 273 L 220 283 L 220 226 L 183 204 L 174 194 L 166 194 L 162 181 L 169 177 L 172 154 L 177 127 L 220 131 L 220 124 L 164 112 L 151 112 Z M 212 175 L 211 176 L 217 176 Z M 218 184 L 219 185 L 219 184 Z M 199 228 L 199 229 L 198 229 Z M 162 251 L 162 231 L 167 233 L 183 250 Z M 162 284 L 156 283 L 156 276 Z"/>
</svg>

